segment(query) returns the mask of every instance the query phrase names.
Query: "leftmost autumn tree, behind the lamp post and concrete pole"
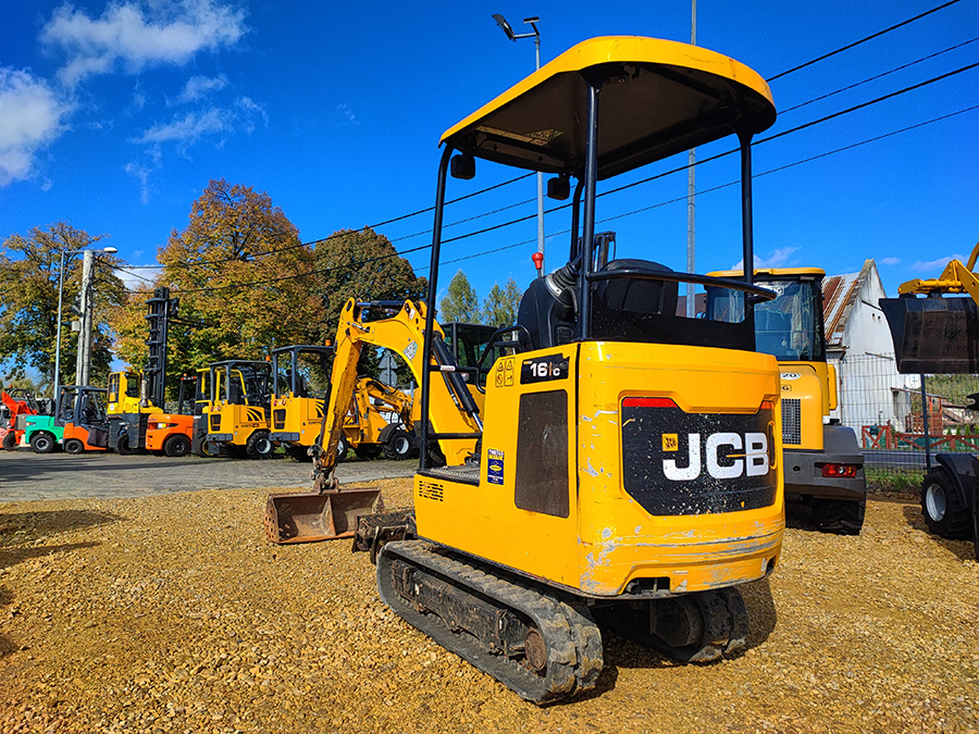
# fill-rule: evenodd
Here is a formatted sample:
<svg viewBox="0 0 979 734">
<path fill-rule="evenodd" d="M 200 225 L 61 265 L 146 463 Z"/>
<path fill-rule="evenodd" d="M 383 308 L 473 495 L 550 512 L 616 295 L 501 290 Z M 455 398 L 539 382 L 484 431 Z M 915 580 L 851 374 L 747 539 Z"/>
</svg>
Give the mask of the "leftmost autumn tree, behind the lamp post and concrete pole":
<svg viewBox="0 0 979 734">
<path fill-rule="evenodd" d="M 34 227 L 28 236 L 14 234 L 0 245 L 0 363 L 10 377 L 22 377 L 27 368 L 37 370 L 45 383 L 53 384 L 58 334 L 58 285 L 61 253 L 80 250 L 106 235 L 92 237 L 66 222 L 47 229 Z M 125 286 L 113 271 L 120 261 L 108 254 L 96 260 L 91 343 L 91 382 L 104 382 L 112 359 L 109 316 L 125 301 Z M 70 307 L 78 298 L 80 258 L 64 264 L 61 328 L 61 380 L 74 382 L 78 336 L 69 327 Z"/>
</svg>

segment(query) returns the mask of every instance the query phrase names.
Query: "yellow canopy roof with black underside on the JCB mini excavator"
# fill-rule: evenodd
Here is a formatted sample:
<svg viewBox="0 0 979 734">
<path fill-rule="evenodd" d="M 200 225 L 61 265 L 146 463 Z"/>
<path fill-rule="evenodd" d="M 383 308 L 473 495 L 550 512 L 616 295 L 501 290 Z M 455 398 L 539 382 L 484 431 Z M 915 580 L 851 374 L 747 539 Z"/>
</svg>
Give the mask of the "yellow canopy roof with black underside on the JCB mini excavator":
<svg viewBox="0 0 979 734">
<path fill-rule="evenodd" d="M 765 79 L 707 49 L 636 36 L 582 41 L 446 130 L 442 142 L 506 165 L 581 175 L 588 80 L 600 83 L 598 177 L 776 119 Z"/>
</svg>

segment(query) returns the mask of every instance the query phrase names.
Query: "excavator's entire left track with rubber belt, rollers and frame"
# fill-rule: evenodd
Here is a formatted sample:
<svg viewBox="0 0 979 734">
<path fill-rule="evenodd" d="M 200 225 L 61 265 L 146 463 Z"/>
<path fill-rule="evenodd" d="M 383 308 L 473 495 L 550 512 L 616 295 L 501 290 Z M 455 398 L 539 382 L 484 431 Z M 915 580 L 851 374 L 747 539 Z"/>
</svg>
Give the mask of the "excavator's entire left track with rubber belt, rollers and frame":
<svg viewBox="0 0 979 734">
<path fill-rule="evenodd" d="M 400 540 L 381 549 L 377 588 L 396 614 L 535 704 L 594 687 L 602 636 L 583 604 L 436 548 Z"/>
</svg>

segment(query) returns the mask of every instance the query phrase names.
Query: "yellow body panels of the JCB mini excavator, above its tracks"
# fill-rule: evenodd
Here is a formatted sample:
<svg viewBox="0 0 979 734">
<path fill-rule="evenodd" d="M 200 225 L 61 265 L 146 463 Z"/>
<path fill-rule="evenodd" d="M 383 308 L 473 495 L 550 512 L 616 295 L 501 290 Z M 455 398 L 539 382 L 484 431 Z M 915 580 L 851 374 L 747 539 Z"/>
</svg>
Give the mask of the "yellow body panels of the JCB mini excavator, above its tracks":
<svg viewBox="0 0 979 734">
<path fill-rule="evenodd" d="M 525 363 L 550 356 L 567 360 L 566 378 L 520 383 Z M 689 366 L 678 369 L 678 362 Z M 556 402 L 566 408 L 563 435 L 550 440 L 567 447 L 567 465 L 558 469 L 562 483 L 537 488 L 552 495 L 534 498 L 533 487 L 517 486 L 521 461 L 541 459 L 540 446 L 519 443 L 532 433 L 521 427 L 534 420 L 521 402 L 542 393 L 561 394 Z M 630 397 L 669 398 L 683 412 L 705 416 L 753 415 L 767 403 L 764 461 L 770 501 L 720 514 L 667 515 L 643 508 L 623 476 L 622 431 L 629 420 L 623 401 Z M 778 561 L 784 525 L 778 400 L 778 370 L 766 354 L 592 343 L 503 358 L 486 386 L 479 485 L 418 474 L 418 533 L 588 596 L 620 595 L 637 580 L 680 594 L 760 579 Z M 679 436 L 677 426 L 659 427 L 654 443 L 677 449 L 661 457 L 679 461 L 684 445 L 690 456 L 689 435 Z M 701 441 L 707 438 L 702 435 Z M 733 446 L 724 448 L 732 457 L 738 453 Z M 744 459 L 724 463 L 738 461 Z M 702 471 L 707 473 L 706 464 Z"/>
</svg>

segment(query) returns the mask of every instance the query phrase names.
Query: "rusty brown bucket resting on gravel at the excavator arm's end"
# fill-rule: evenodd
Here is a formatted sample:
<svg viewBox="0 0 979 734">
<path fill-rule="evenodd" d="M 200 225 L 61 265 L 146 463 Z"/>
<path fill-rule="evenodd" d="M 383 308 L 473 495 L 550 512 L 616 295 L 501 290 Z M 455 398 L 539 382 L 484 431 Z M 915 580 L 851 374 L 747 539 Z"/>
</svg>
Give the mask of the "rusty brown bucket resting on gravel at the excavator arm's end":
<svg viewBox="0 0 979 734">
<path fill-rule="evenodd" d="M 377 487 L 269 495 L 265 535 L 277 544 L 348 538 L 357 530 L 357 515 L 383 509 Z"/>
</svg>

